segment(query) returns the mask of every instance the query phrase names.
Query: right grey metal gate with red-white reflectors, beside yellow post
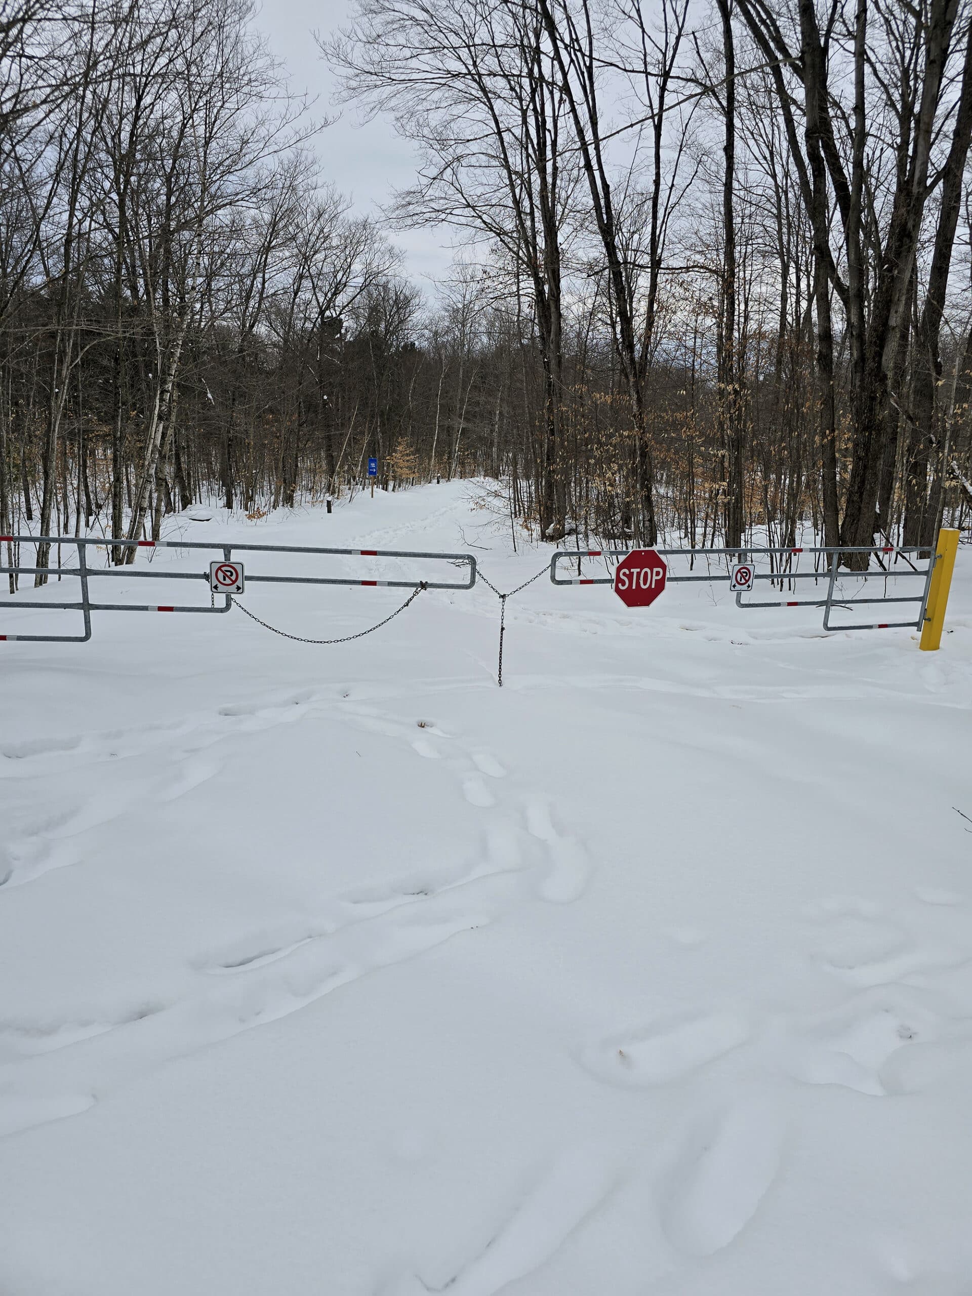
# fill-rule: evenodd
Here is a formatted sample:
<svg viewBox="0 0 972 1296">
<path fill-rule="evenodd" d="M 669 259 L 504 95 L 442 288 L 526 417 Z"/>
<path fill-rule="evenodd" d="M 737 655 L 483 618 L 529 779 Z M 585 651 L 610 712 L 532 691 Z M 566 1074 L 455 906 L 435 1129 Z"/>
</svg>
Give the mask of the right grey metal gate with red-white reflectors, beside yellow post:
<svg viewBox="0 0 972 1296">
<path fill-rule="evenodd" d="M 559 577 L 557 566 L 561 562 L 577 562 L 578 570 L 581 561 L 583 559 L 622 559 L 625 555 L 630 553 L 630 550 L 559 550 L 551 559 L 550 565 L 550 578 L 553 584 L 612 584 L 614 583 L 614 577 L 608 574 L 603 577 Z M 753 572 L 754 581 L 771 581 L 784 584 L 785 582 L 796 581 L 814 581 L 818 584 L 826 583 L 826 592 L 823 597 L 811 599 L 767 599 L 767 600 L 754 600 L 744 601 L 741 594 L 736 594 L 736 607 L 746 610 L 749 608 L 823 608 L 823 629 L 835 630 L 890 630 L 896 627 L 910 627 L 914 630 L 920 630 L 925 621 L 925 608 L 928 604 L 928 591 L 932 583 L 932 573 L 934 570 L 936 555 L 929 553 L 928 546 L 908 546 L 902 547 L 897 544 L 889 546 L 841 546 L 826 547 L 826 546 L 801 546 L 797 548 L 739 548 L 739 550 L 726 550 L 726 548 L 708 548 L 708 550 L 662 550 L 654 547 L 654 552 L 664 559 L 678 559 L 684 557 L 695 561 L 697 559 L 717 559 L 719 561 L 726 561 L 727 568 L 730 564 L 740 564 L 756 561 L 758 559 L 770 560 L 771 569 L 767 572 Z M 810 555 L 814 557 L 814 570 L 801 572 L 798 570 L 798 556 Z M 875 570 L 866 572 L 849 572 L 846 573 L 846 579 L 849 581 L 888 581 L 889 578 L 906 577 L 915 581 L 915 592 L 908 595 L 889 595 L 886 591 L 881 597 L 870 597 L 868 595 L 850 596 L 845 597 L 842 591 L 837 588 L 839 581 L 839 566 L 841 561 L 841 555 L 845 553 L 867 553 L 875 556 L 879 562 L 879 568 Z M 916 561 L 908 555 L 914 555 Z M 924 555 L 924 557 L 921 556 Z M 905 566 L 897 566 L 894 570 L 889 570 L 892 557 L 901 559 Z M 793 559 L 797 559 L 797 564 Z M 823 559 L 823 565 L 816 566 L 816 561 Z M 696 572 L 689 572 L 687 574 L 677 574 L 669 570 L 667 581 L 671 583 L 678 582 L 708 582 L 709 584 L 728 584 L 731 581 L 731 574 L 728 569 L 726 572 L 706 572 L 699 574 Z M 794 591 L 796 592 L 796 591 Z M 868 622 L 853 622 L 846 625 L 831 625 L 831 614 L 835 608 L 853 608 L 861 604 L 902 604 L 911 603 L 918 605 L 916 614 L 910 621 L 868 621 Z"/>
</svg>

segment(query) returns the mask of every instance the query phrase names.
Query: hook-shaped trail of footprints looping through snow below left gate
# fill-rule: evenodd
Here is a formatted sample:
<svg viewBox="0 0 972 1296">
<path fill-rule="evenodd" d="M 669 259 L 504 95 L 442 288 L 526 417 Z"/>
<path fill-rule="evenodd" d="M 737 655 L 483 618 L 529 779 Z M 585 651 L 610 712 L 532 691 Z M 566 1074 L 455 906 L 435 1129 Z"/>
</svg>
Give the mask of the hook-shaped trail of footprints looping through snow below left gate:
<svg viewBox="0 0 972 1296">
<path fill-rule="evenodd" d="M 209 750 L 215 744 L 231 734 L 258 732 L 315 714 L 315 708 L 303 705 L 314 697 L 306 692 L 268 705 L 226 706 L 218 714 L 161 726 L 150 736 L 146 730 L 132 730 L 86 737 L 82 752 L 105 758 L 119 753 L 135 761 L 150 757 L 149 772 L 126 759 L 92 796 L 61 813 L 36 815 L 19 837 L 0 845 L 0 876 L 4 859 L 14 884 L 84 859 L 93 840 L 84 836 L 88 828 L 137 813 L 141 805 L 191 793 L 218 775 L 220 765 Z M 445 754 L 450 741 L 432 722 L 397 723 L 353 709 L 349 719 L 416 748 L 428 744 L 421 753 L 426 756 Z M 499 791 L 495 780 L 505 772 L 502 763 L 461 743 L 452 750 L 447 766 L 455 769 L 456 791 L 461 788 L 474 805 L 492 806 L 492 789 Z M 79 759 L 74 743 L 66 756 Z M 41 752 L 34 756 L 35 762 L 44 759 Z M 539 890 L 548 899 L 574 898 L 588 872 L 582 848 L 561 837 L 546 804 L 530 802 L 527 819 L 525 826 L 515 810 L 490 814 L 472 861 L 465 854 L 455 866 L 430 866 L 388 884 L 332 896 L 310 915 L 258 927 L 206 951 L 187 969 L 189 981 L 174 1002 L 121 1012 L 96 1007 L 53 1025 L 17 1021 L 4 1030 L 0 1024 L 0 1086 L 10 1090 L 19 1113 L 12 1117 L 13 1128 L 82 1111 L 93 1098 L 78 1098 L 78 1093 L 110 1091 L 171 1058 L 293 1013 L 340 986 L 490 923 L 530 892 Z M 65 1047 L 73 1047 L 70 1093 L 64 1065 L 54 1069 L 49 1056 Z"/>
</svg>

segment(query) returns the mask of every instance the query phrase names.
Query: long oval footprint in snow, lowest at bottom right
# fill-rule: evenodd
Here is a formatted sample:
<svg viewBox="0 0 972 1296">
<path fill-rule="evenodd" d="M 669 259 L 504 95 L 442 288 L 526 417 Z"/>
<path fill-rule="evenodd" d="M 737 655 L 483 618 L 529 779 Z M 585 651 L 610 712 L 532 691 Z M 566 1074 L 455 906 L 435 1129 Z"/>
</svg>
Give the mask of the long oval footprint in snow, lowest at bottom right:
<svg viewBox="0 0 972 1296">
<path fill-rule="evenodd" d="M 693 1131 L 661 1205 L 674 1247 L 712 1256 L 743 1231 L 779 1170 L 783 1129 L 774 1095 L 753 1094 Z"/>
</svg>

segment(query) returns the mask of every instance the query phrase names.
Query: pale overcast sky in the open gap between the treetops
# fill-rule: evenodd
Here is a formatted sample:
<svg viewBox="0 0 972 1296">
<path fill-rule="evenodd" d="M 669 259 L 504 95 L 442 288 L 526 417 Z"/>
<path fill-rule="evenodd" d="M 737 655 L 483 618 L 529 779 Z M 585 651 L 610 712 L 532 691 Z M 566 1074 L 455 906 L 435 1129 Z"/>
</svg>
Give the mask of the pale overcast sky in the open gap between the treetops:
<svg viewBox="0 0 972 1296">
<path fill-rule="evenodd" d="M 336 108 L 333 78 L 320 57 L 314 31 L 328 35 L 347 21 L 351 0 L 263 0 L 257 26 L 286 65 L 290 88 L 318 96 L 318 111 L 341 113 L 340 121 L 318 137 L 323 175 L 354 198 L 355 210 L 378 216 L 378 205 L 395 187 L 410 184 L 415 153 L 388 119 L 359 124 L 356 109 Z M 404 271 L 430 289 L 424 276 L 443 275 L 451 260 L 448 232 L 406 231 L 390 235 L 406 254 Z"/>
</svg>

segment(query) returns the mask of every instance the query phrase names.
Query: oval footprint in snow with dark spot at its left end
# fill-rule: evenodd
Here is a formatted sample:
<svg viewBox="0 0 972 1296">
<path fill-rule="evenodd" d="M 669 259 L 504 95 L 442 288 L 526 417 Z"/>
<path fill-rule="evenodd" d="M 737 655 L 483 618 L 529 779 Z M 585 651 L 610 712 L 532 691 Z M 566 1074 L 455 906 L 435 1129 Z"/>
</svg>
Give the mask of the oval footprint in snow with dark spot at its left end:
<svg viewBox="0 0 972 1296">
<path fill-rule="evenodd" d="M 666 1016 L 588 1046 L 581 1063 L 610 1085 L 665 1085 L 722 1058 L 750 1036 L 749 1021 L 731 1010 Z"/>
</svg>

